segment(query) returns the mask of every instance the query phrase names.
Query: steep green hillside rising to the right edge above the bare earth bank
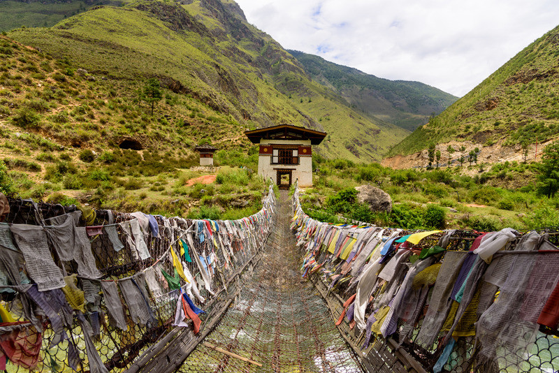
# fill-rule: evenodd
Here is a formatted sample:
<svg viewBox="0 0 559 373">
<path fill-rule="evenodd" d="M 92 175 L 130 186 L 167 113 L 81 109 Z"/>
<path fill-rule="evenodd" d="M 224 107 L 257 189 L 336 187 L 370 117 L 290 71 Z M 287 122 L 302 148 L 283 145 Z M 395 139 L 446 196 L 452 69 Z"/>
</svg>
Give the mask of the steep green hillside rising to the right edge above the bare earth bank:
<svg viewBox="0 0 559 373">
<path fill-rule="evenodd" d="M 393 147 L 412 154 L 430 143 L 470 140 L 518 146 L 559 133 L 559 27 L 525 47 L 447 110 Z"/>
</svg>

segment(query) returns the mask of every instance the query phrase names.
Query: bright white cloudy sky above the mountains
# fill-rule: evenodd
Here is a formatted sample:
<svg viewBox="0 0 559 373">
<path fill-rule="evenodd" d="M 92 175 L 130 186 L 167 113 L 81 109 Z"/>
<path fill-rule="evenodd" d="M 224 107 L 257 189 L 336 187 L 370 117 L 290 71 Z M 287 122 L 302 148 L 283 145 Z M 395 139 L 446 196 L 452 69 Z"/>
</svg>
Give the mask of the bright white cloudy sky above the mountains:
<svg viewBox="0 0 559 373">
<path fill-rule="evenodd" d="M 558 0 L 235 0 L 287 49 L 470 92 L 559 24 Z"/>
</svg>

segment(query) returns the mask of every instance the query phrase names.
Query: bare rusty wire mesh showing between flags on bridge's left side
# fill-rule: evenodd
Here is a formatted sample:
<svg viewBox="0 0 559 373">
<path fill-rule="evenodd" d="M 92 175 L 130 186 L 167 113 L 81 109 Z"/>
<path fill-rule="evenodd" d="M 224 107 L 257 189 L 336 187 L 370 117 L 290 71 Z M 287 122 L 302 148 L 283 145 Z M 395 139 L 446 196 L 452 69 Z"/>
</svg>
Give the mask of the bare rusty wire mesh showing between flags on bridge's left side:
<svg viewBox="0 0 559 373">
<path fill-rule="evenodd" d="M 11 224 L 40 225 L 43 224 L 45 219 L 75 211 L 75 206 L 68 207 L 46 203 L 35 204 L 30 200 L 10 200 L 10 206 L 11 210 L 8 215 L 7 222 Z M 129 214 L 115 212 L 112 212 L 112 214 L 115 217 L 116 223 L 131 219 Z M 93 225 L 108 224 L 107 217 L 108 215 L 105 210 L 97 210 L 96 220 Z M 157 220 L 160 228 L 163 228 L 164 225 L 162 224 L 162 218 L 157 217 Z M 178 221 L 177 224 L 184 225 L 184 222 L 187 224 L 191 223 L 191 221 Z M 259 221 L 253 221 L 253 224 L 257 228 L 256 231 L 260 233 L 256 234 L 258 237 L 251 237 L 251 240 L 254 239 L 254 242 L 256 243 L 259 241 L 262 242 L 264 232 L 261 232 L 258 229 L 260 228 Z M 187 228 L 187 226 L 183 226 L 182 228 Z M 217 273 L 214 276 L 213 286 L 218 289 L 224 288 L 227 279 L 231 278 L 233 272 L 235 272 L 237 268 L 241 268 L 245 265 L 245 263 L 249 261 L 249 258 L 252 258 L 252 256 L 256 254 L 256 248 L 253 244 L 250 244 L 248 234 L 244 240 L 240 237 L 229 238 L 231 239 L 231 246 L 234 252 L 234 255 L 231 256 L 231 263 L 229 265 L 225 265 L 226 258 L 224 257 L 222 250 L 215 250 L 217 263 L 219 263 L 219 270 L 217 270 Z M 96 260 L 96 266 L 103 273 L 103 277 L 101 277 L 102 280 L 115 280 L 130 277 L 131 275 L 135 275 L 138 272 L 154 265 L 154 263 L 162 257 L 164 257 L 164 260 L 159 261 L 159 263 L 161 263 L 166 272 L 173 274 L 173 264 L 166 258 L 166 253 L 168 252 L 170 245 L 175 244 L 175 241 L 173 241 L 173 237 L 168 234 L 162 234 L 160 238 L 155 238 L 151 235 L 147 236 L 146 243 L 151 257 L 143 261 L 132 258 L 129 244 L 123 237 L 121 237 L 121 241 L 122 244 L 124 244 L 124 249 L 120 251 L 115 251 L 115 249 L 113 249 L 112 243 L 108 240 L 107 235 L 90 237 L 90 240 L 92 243 L 92 253 L 94 254 Z M 199 247 L 196 247 L 196 249 L 201 250 L 203 245 L 211 244 L 209 241 L 210 240 L 206 240 L 203 244 L 196 242 L 196 245 L 200 245 Z M 211 251 L 210 247 L 207 247 L 207 249 L 210 249 Z M 57 261 L 57 264 L 61 268 L 65 268 L 68 273 L 76 273 L 76 263 L 62 263 Z M 187 267 L 198 284 L 202 283 L 201 273 L 196 264 L 187 263 Z M 82 289 L 85 281 L 87 280 L 78 277 L 78 288 Z M 154 298 L 154 296 L 150 294 L 150 298 L 147 300 L 157 319 L 157 323 L 153 326 L 147 327 L 134 323 L 130 319 L 129 313 L 126 312 L 127 305 L 125 302 L 122 304 L 124 307 L 124 314 L 126 315 L 128 330 L 121 330 L 110 325 L 109 314 L 105 305 L 104 297 L 99 297 L 99 304 L 97 305 L 87 305 L 85 318 L 92 324 L 92 326 L 96 326 L 94 327 L 93 337 L 95 349 L 98 351 L 103 365 L 105 365 L 106 369 L 110 372 L 123 372 L 126 370 L 133 360 L 136 360 L 136 358 L 146 351 L 146 349 L 167 335 L 168 332 L 173 329 L 172 322 L 175 317 L 177 291 L 172 291 L 168 287 L 166 281 L 160 278 L 157 278 L 157 281 L 163 291 L 163 295 Z M 101 289 L 99 289 L 99 291 L 101 291 Z M 207 300 L 212 298 L 212 295 L 210 295 L 203 286 L 200 287 L 200 292 Z M 0 293 L 1 304 L 8 311 L 12 311 L 13 314 L 19 314 L 19 310 L 21 309 L 21 302 L 19 302 L 16 295 L 17 292 Z M 208 304 L 212 303 L 208 302 Z M 212 315 L 213 312 L 215 312 L 214 307 L 211 305 L 208 307 L 201 305 L 200 307 L 202 307 L 205 311 L 205 314 L 201 314 L 202 321 L 205 321 L 205 319 L 208 318 L 208 315 Z M 38 363 L 36 367 L 32 369 L 33 372 L 72 372 L 74 369 L 68 363 L 68 356 L 71 354 L 71 345 L 75 346 L 80 358 L 80 363 L 75 368 L 80 371 L 89 371 L 84 330 L 80 327 L 80 323 L 78 323 L 78 319 L 75 314 L 73 317 L 73 323 L 65 328 L 68 333 L 68 339 L 56 346 L 53 346 L 52 348 L 50 348 L 49 344 L 52 341 L 54 332 L 52 331 L 52 326 L 48 322 L 48 319 L 45 319 L 43 327 L 45 330 L 42 335 L 37 333 L 34 328 L 24 328 L 24 332 L 27 333 L 26 338 L 29 339 L 29 341 L 36 339 L 37 337 L 40 341 L 42 339 Z M 8 372 L 29 371 L 22 366 L 13 365 L 10 361 L 8 361 L 7 370 Z"/>
</svg>

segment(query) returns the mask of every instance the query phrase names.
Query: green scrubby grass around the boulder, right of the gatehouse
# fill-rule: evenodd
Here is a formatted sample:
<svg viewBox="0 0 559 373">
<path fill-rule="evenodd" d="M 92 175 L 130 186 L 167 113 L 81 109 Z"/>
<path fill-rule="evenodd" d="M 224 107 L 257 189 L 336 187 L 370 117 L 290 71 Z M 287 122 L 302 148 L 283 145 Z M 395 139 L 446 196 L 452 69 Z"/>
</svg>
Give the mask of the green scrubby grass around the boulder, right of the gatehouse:
<svg viewBox="0 0 559 373">
<path fill-rule="evenodd" d="M 314 186 L 300 196 L 301 203 L 312 217 L 323 221 L 339 221 L 338 214 L 350 219 L 369 221 L 381 226 L 435 228 L 433 215 L 445 212 L 446 228 L 472 228 L 498 231 L 505 227 L 534 229 L 555 226 L 559 215 L 559 198 L 538 196 L 530 165 L 503 163 L 488 170 L 486 177 L 460 175 L 460 170 L 391 170 L 380 165 L 354 163 L 315 157 Z M 520 173 L 518 170 L 522 170 Z M 502 186 L 500 173 L 511 176 L 511 184 Z M 340 210 L 329 198 L 340 191 L 365 183 L 380 186 L 393 200 L 391 214 L 370 214 L 359 205 L 347 204 Z M 468 207 L 469 204 L 486 207 Z M 555 209 L 555 210 L 554 210 Z M 433 210 L 433 213 L 428 213 Z M 431 219 L 429 218 L 431 217 Z"/>
</svg>

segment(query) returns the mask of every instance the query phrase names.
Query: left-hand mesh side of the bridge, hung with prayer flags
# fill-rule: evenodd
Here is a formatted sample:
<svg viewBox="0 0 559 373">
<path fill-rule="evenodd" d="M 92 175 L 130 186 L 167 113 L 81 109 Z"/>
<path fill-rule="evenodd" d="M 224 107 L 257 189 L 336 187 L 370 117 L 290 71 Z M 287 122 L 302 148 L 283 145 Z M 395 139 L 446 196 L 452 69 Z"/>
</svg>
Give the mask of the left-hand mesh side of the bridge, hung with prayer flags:
<svg viewBox="0 0 559 373">
<path fill-rule="evenodd" d="M 84 227 L 84 232 L 87 229 L 87 249 L 91 247 L 92 265 L 99 268 L 99 276 L 78 275 L 83 269 L 82 258 L 62 260 L 45 238 L 36 243 L 45 245 L 45 263 L 54 261 L 53 265 L 64 273 L 66 286 L 34 291 L 37 285 L 29 284 L 29 277 L 35 280 L 41 275 L 41 258 L 36 262 L 37 277 L 31 276 L 29 263 L 20 251 L 22 242 L 14 246 L 10 229 L 25 226 L 43 230 L 50 226 L 48 219 L 78 211 L 75 206 L 10 199 L 8 224 L 0 224 L 0 370 L 6 365 L 8 372 L 122 372 L 171 331 L 188 330 L 194 335 L 188 317 L 183 321 L 186 328 L 173 327 L 180 291 L 186 289 L 190 293 L 191 286 L 198 284 L 196 298 L 191 293 L 190 296 L 203 308 L 204 313 L 199 316 L 202 324 L 215 318 L 222 305 L 220 300 L 227 295 L 227 286 L 263 248 L 274 203 L 270 189 L 264 200 L 266 208 L 252 217 L 202 221 L 207 238 L 203 242 L 198 240 L 202 231 L 189 230 L 193 226 L 196 229 L 199 221 L 151 217 L 159 234 L 143 228 L 139 235 L 133 235 L 133 231 L 127 234 L 126 224 L 137 217 L 108 210 L 85 210 L 77 225 Z M 206 229 L 206 224 L 212 226 Z M 115 229 L 116 240 L 108 234 L 110 227 Z M 187 235 L 196 239 L 189 240 L 188 245 L 184 242 L 183 253 L 180 241 L 187 241 Z M 74 237 L 73 233 L 70 237 Z M 145 242 L 147 251 L 138 250 L 140 242 Z M 87 254 L 87 250 L 84 252 Z M 201 262 L 197 264 L 198 253 Z M 190 282 L 177 275 L 173 255 L 180 257 L 182 265 L 178 267 L 190 276 Z M 203 285 L 203 272 L 210 276 L 213 291 Z M 109 291 L 112 285 L 114 296 Z M 113 312 L 119 308 L 120 320 L 115 319 Z"/>
</svg>

